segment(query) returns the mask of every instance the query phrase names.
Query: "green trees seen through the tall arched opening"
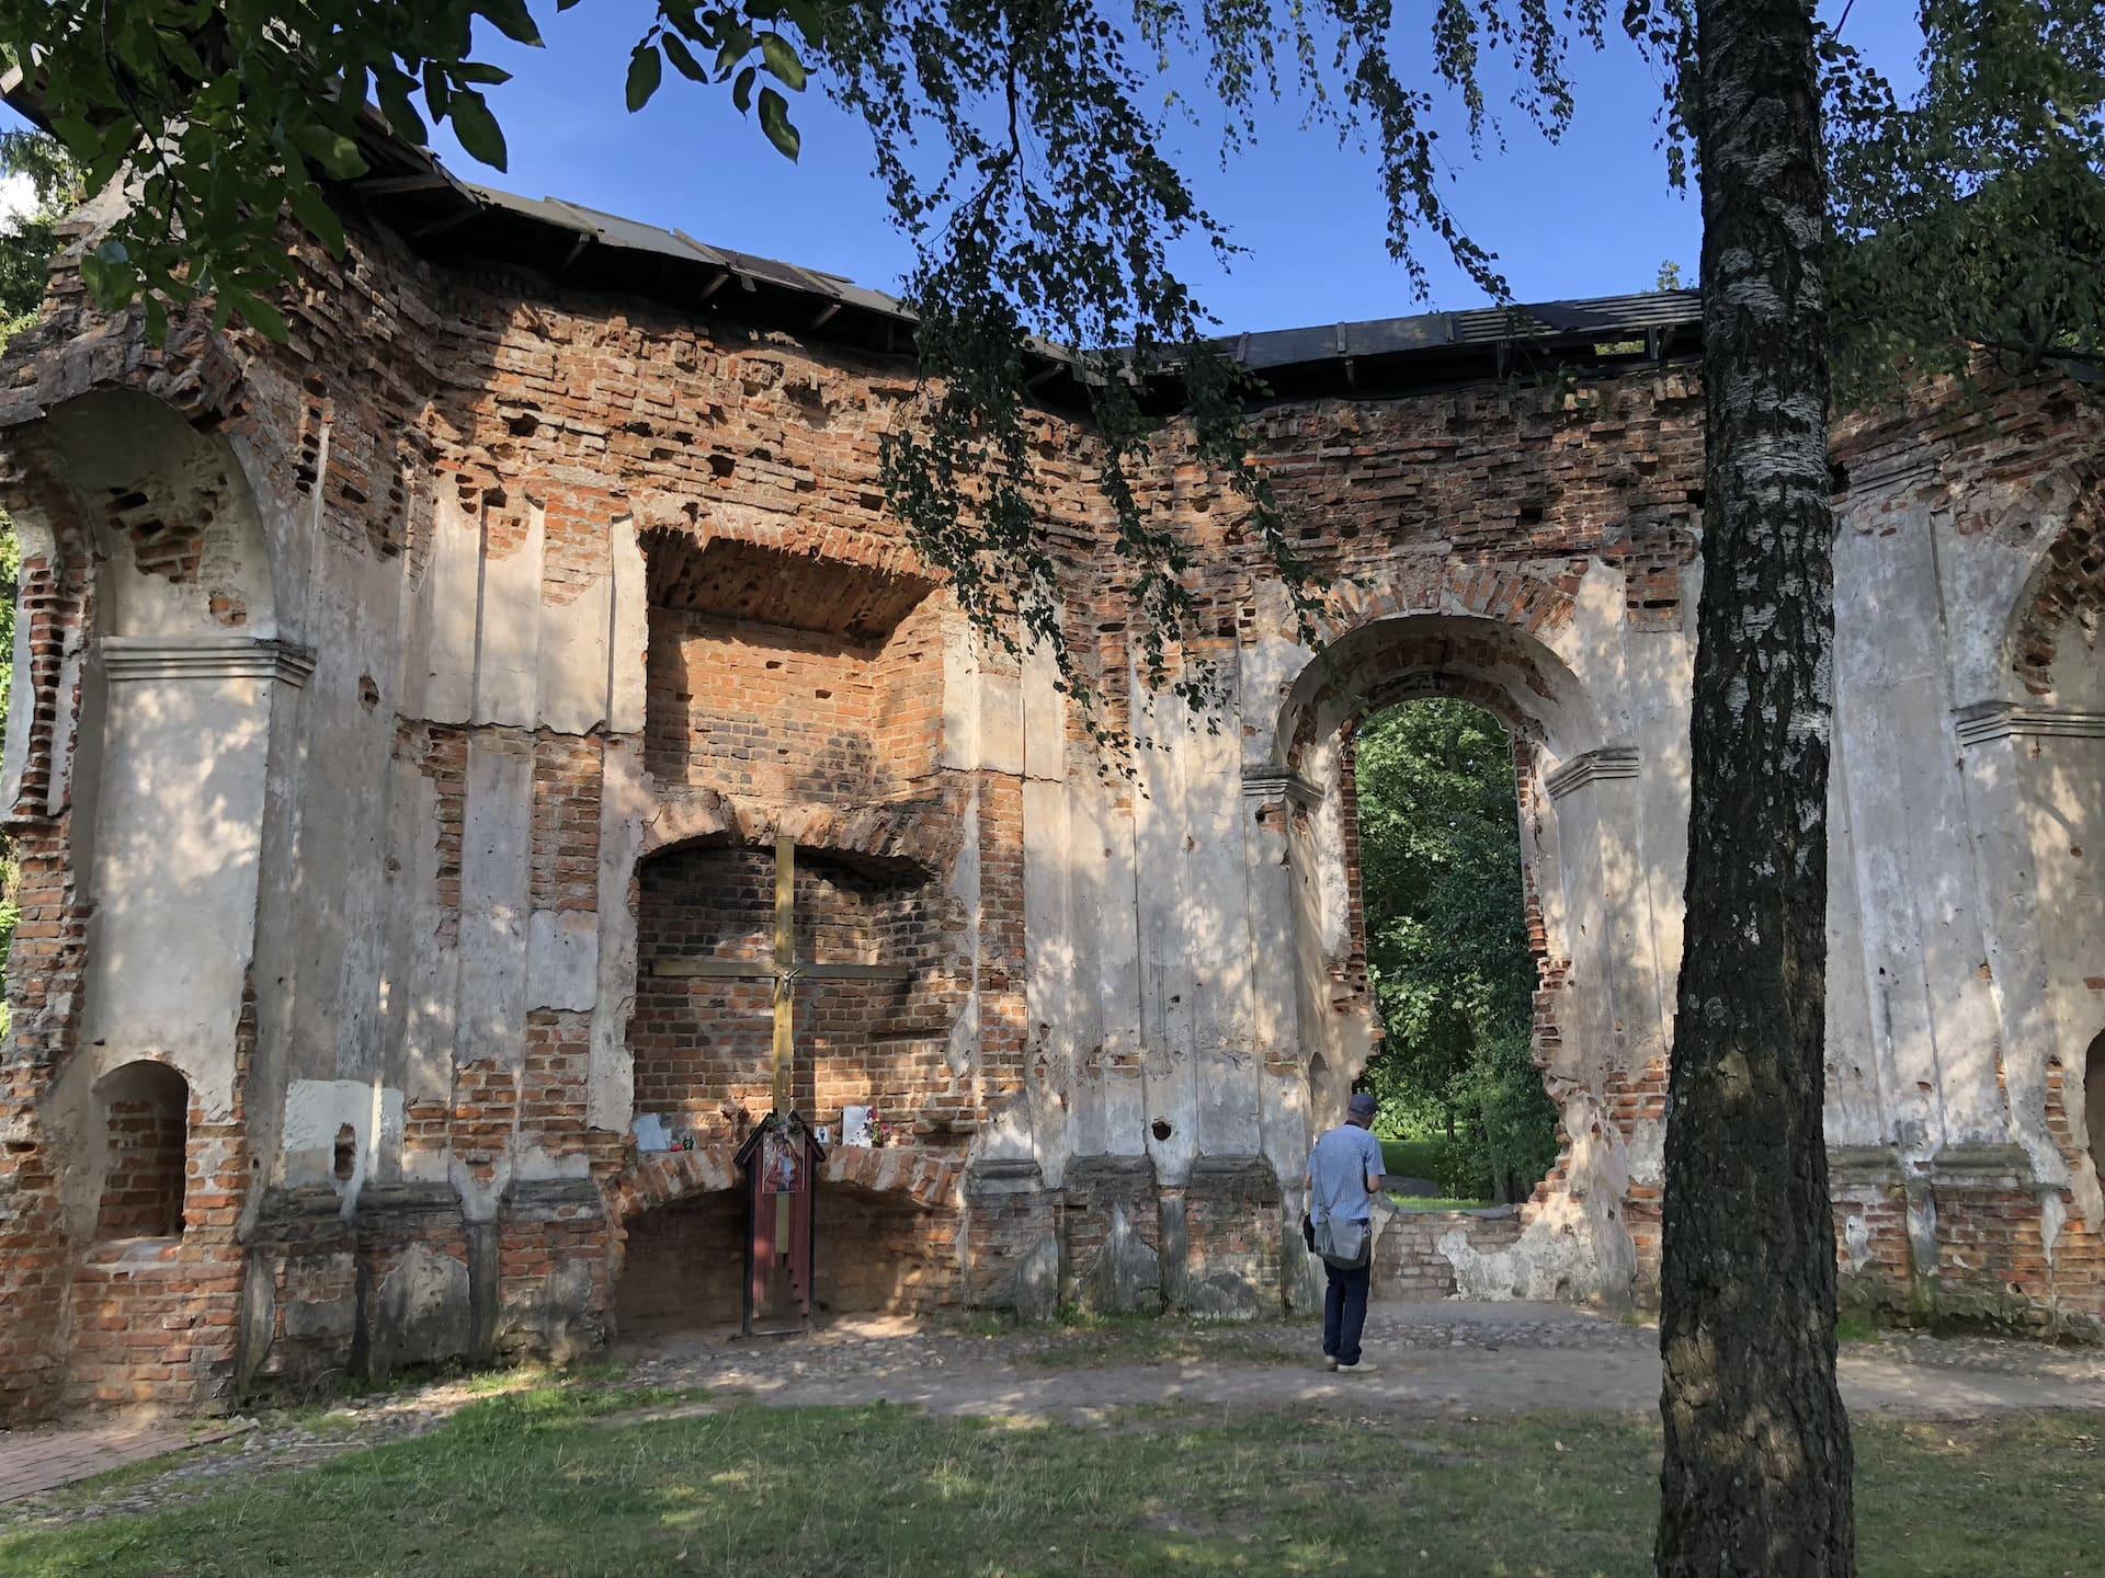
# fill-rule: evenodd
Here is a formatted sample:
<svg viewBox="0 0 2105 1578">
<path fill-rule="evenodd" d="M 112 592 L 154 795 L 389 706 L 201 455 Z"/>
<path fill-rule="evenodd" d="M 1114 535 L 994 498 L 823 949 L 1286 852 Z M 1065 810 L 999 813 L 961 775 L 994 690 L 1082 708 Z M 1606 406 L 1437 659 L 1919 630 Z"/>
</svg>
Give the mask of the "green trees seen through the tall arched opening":
<svg viewBox="0 0 2105 1578">
<path fill-rule="evenodd" d="M 1520 806 L 1505 726 L 1412 701 L 1360 726 L 1360 905 L 1381 1014 L 1383 1119 L 1452 1142 L 1440 1189 L 1520 1199 L 1556 1161 L 1535 1067 Z"/>
</svg>

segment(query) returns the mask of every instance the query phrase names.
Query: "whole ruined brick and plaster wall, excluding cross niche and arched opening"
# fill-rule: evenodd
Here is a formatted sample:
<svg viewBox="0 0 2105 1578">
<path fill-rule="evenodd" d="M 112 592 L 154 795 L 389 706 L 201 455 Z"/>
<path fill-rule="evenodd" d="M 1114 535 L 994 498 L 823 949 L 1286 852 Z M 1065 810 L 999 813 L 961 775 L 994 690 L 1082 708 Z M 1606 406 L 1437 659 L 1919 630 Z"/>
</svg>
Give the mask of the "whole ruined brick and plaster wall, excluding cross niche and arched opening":
<svg viewBox="0 0 2105 1578">
<path fill-rule="evenodd" d="M 916 574 L 876 488 L 901 368 L 436 276 L 377 244 L 356 269 L 303 267 L 286 347 L 185 324 L 162 353 L 93 320 L 61 274 L 0 396 L 29 549 L 8 804 L 53 884 L 17 947 L 6 1121 L 34 1161 L 15 1164 L 15 1199 L 55 1201 L 11 1206 L 25 1227 L 0 1250 L 80 1237 L 93 1195 L 53 1159 L 84 1145 L 107 1067 L 164 1056 L 225 1180 L 194 1199 L 225 1229 L 198 1286 L 221 1298 L 225 1262 L 248 1256 L 250 1372 L 366 1340 L 589 1338 L 619 1265 L 625 1208 L 606 1201 L 684 1197 L 638 1182 L 627 1138 L 638 863 L 791 831 L 937 875 L 956 989 L 943 1100 L 968 1092 L 964 1155 L 878 1176 L 914 1178 L 939 1214 L 924 1239 L 947 1233 L 958 1296 L 1042 1309 L 1101 1283 L 1238 1313 L 1274 1279 L 1307 1298 L 1301 1166 L 1375 1046 L 1345 968 L 1339 730 L 1446 692 L 1520 736 L 1537 1046 L 1566 1145 L 1518 1235 L 1440 1252 L 1476 1294 L 1642 1290 L 1699 595 L 1686 370 L 1259 412 L 1259 459 L 1330 589 L 1314 633 L 1227 494 L 1164 465 L 1147 501 L 1198 547 L 1208 631 L 1172 663 L 1219 680 L 1200 713 L 1143 682 L 1088 438 L 1048 419 L 1074 633 L 1109 722 L 1132 728 L 1132 774 L 1099 755 L 1042 652 L 989 652 L 937 591 L 911 614 L 937 621 L 933 648 L 907 654 L 939 667 L 933 688 L 882 654 L 840 669 L 871 686 L 876 711 L 842 724 L 876 736 L 848 741 L 884 764 L 871 797 L 874 781 L 779 757 L 747 772 L 737 751 L 678 781 L 653 770 L 644 539 L 735 543 L 813 585 Z M 112 400 L 160 402 L 137 429 L 154 442 Z M 2101 1273 L 2082 1260 L 2099 1197 L 2080 1052 L 2105 991 L 2082 863 L 2105 762 L 2084 711 L 2094 600 L 2044 581 L 2067 579 L 2054 543 L 2094 501 L 2071 454 L 2099 454 L 2097 421 L 2029 385 L 1983 423 L 1844 440 L 1842 1252 L 2082 1311 Z M 695 650 L 745 642 L 781 638 L 730 625 Z M 741 686 L 766 682 L 754 656 Z M 688 684 L 695 728 L 758 715 L 667 682 Z M 1968 1201 L 2019 1220 L 2023 1243 L 1945 1254 L 1939 1220 Z M 17 1338 L 36 1374 L 63 1368 L 63 1304 Z M 429 1330 L 360 1336 L 360 1309 L 425 1311 Z M 200 1340 L 200 1395 L 223 1389 L 227 1340 Z"/>
</svg>

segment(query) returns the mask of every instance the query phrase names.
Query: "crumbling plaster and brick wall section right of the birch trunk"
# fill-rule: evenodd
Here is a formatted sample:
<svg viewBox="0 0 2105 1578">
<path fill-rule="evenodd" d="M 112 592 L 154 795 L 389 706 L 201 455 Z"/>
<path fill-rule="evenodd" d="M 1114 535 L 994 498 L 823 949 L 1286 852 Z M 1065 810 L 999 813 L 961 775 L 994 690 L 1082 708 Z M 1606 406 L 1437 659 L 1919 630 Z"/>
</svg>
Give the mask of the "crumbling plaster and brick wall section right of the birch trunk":
<svg viewBox="0 0 2105 1578">
<path fill-rule="evenodd" d="M 2105 717 L 2086 534 L 2105 410 L 2059 377 L 1926 404 L 1932 423 L 1865 419 L 1838 442 L 1827 1056 L 1844 1273 L 1901 1262 L 1916 1304 L 2094 1328 L 2105 1197 L 2082 1067 L 2105 1025 Z M 2044 665 L 2042 604 L 2065 623 Z"/>
</svg>

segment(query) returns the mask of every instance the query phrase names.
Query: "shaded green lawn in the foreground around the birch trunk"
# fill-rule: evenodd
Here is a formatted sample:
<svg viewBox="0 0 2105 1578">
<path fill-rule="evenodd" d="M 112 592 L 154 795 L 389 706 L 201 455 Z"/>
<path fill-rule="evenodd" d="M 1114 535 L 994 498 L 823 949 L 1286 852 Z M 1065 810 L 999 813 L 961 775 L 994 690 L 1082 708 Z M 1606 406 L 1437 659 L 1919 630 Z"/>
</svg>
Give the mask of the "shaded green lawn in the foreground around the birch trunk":
<svg viewBox="0 0 2105 1578">
<path fill-rule="evenodd" d="M 145 1574 L 1644 1574 L 1646 1420 L 899 1408 L 636 1422 L 493 1397 L 444 1429 L 189 1506 L 0 1536 L 11 1578 Z M 594 1414 L 610 1414 L 598 1420 Z M 2099 1420 L 1859 1424 L 1865 1574 L 2094 1574 Z"/>
</svg>

